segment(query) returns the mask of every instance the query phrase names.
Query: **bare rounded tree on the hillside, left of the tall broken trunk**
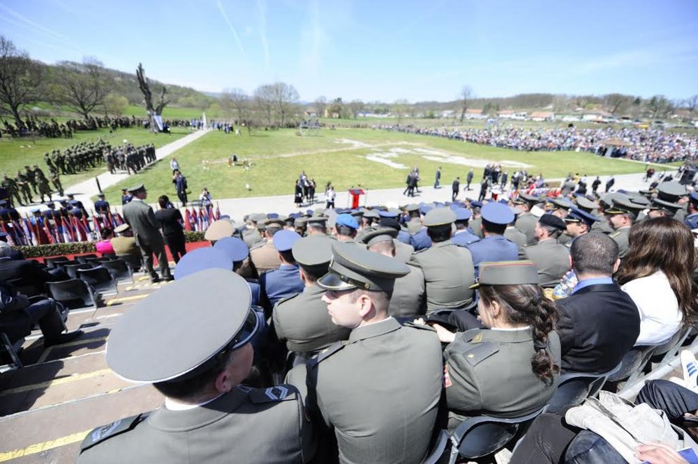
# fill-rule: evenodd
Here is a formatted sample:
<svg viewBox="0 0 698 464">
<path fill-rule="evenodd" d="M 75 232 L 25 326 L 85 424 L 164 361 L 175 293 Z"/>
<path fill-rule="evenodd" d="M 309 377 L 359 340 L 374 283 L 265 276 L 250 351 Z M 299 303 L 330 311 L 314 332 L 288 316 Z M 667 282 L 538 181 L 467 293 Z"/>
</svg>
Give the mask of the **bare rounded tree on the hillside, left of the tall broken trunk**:
<svg viewBox="0 0 698 464">
<path fill-rule="evenodd" d="M 104 65 L 94 56 L 88 56 L 82 63 L 59 63 L 56 77 L 59 102 L 83 118 L 88 119 L 96 107 L 103 105 L 107 95 Z"/>
</svg>

